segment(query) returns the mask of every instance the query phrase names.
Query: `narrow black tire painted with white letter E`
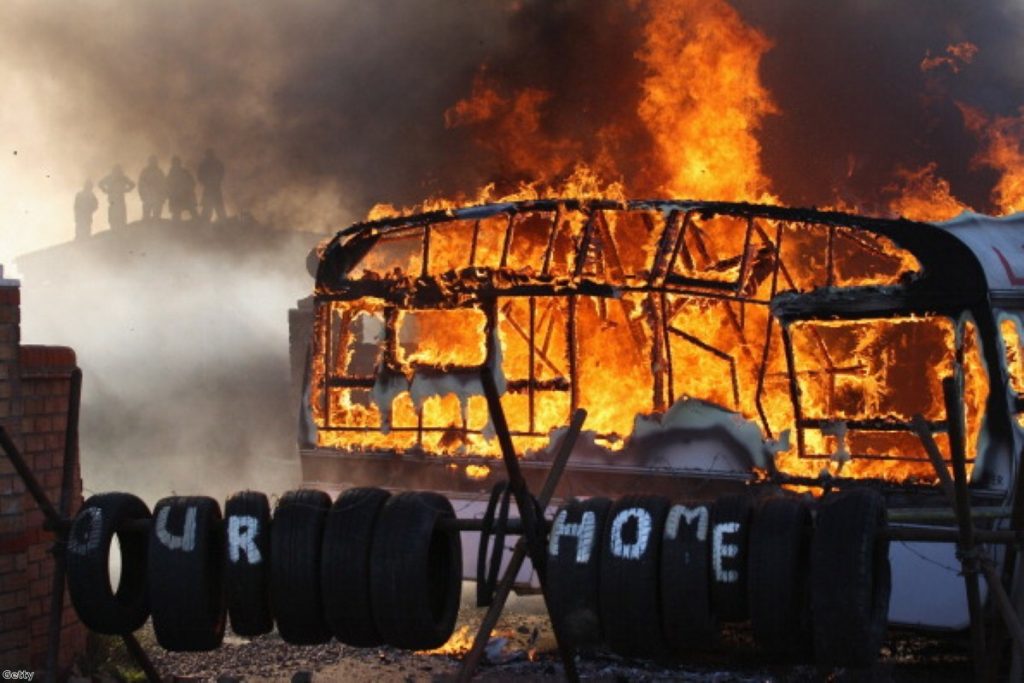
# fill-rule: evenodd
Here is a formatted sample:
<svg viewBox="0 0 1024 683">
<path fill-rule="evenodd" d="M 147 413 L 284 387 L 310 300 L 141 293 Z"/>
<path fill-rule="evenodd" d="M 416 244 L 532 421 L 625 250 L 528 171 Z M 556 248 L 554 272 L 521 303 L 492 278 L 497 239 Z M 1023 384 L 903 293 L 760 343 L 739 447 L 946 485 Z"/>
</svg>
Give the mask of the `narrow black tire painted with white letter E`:
<svg viewBox="0 0 1024 683">
<path fill-rule="evenodd" d="M 711 508 L 711 600 L 722 622 L 750 616 L 746 596 L 749 537 L 754 502 L 750 496 L 724 496 Z"/>
</svg>

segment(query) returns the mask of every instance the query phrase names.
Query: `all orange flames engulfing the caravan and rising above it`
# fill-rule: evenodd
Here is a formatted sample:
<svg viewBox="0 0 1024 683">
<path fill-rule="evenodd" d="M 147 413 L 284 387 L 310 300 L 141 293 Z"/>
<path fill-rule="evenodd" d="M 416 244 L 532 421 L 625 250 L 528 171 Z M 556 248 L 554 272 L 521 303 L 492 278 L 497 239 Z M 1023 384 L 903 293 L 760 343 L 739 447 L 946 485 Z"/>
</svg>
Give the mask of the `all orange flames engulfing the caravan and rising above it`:
<svg viewBox="0 0 1024 683">
<path fill-rule="evenodd" d="M 759 75 L 772 40 L 724 0 L 633 0 L 631 8 L 643 42 L 630 106 L 577 133 L 557 125 L 566 118 L 557 93 L 510 84 L 483 65 L 442 123 L 473 138 L 495 177 L 464 195 L 371 212 L 372 221 L 440 217 L 374 233 L 347 278 L 386 285 L 387 295 L 321 293 L 333 298 L 315 325 L 319 445 L 497 456 L 474 375 L 486 365 L 506 387 L 520 453 L 547 447 L 578 405 L 596 441 L 615 450 L 638 416 L 692 397 L 735 411 L 766 437 L 793 433 L 794 446 L 775 462 L 785 473 L 923 481 L 935 475 L 907 425 L 924 415 L 948 453 L 941 379 L 961 374 L 973 458 L 988 385 L 970 321 L 773 315 L 784 292 L 902 287 L 920 270 L 909 252 L 827 221 L 627 210 L 627 197 L 643 196 L 777 203 L 759 133 L 767 117 L 784 114 Z M 956 74 L 977 53 L 958 43 L 920 67 Z M 976 164 L 1001 173 L 993 204 L 1021 210 L 1024 110 L 1019 118 L 961 111 L 983 143 Z M 934 162 L 897 169 L 880 186 L 890 211 L 911 219 L 971 208 Z M 560 201 L 480 217 L 457 211 L 546 198 Z M 584 207 L 592 200 L 608 202 Z M 515 287 L 561 289 L 505 294 Z M 481 290 L 497 292 L 494 300 Z M 385 302 L 396 292 L 397 311 Z M 474 464 L 465 473 L 486 470 Z"/>
</svg>

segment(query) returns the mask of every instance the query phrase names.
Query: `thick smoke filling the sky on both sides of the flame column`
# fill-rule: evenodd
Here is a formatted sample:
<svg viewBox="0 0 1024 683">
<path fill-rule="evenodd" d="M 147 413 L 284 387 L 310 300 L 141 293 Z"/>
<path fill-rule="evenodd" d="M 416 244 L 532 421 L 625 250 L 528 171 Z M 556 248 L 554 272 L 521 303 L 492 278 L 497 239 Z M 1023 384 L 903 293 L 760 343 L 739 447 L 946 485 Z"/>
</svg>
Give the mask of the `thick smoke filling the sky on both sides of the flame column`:
<svg viewBox="0 0 1024 683">
<path fill-rule="evenodd" d="M 972 165 L 978 140 L 956 102 L 1017 114 L 1019 3 L 733 4 L 774 44 L 762 78 L 779 114 L 758 137 L 782 202 L 839 198 L 870 210 L 899 169 L 936 162 L 955 195 L 991 208 L 993 171 Z M 527 161 L 614 167 L 648 194 L 650 140 L 643 126 L 623 125 L 636 120 L 646 18 L 644 2 L 610 0 L 14 0 L 0 65 L 17 74 L 18 96 L 6 104 L 46 124 L 33 132 L 48 138 L 46 169 L 66 193 L 115 162 L 132 171 L 157 153 L 194 164 L 215 145 L 230 163 L 238 208 L 323 229 L 377 202 L 532 179 L 510 164 L 500 127 L 445 127 L 445 112 L 481 74 L 505 97 L 547 93 L 525 136 L 537 145 L 521 152 Z M 961 42 L 978 52 L 959 73 L 922 69 Z M 11 147 L 25 141 L 7 129 Z M 613 142 L 611 132 L 621 134 Z M 17 163 L 36 172 L 36 160 Z"/>
</svg>

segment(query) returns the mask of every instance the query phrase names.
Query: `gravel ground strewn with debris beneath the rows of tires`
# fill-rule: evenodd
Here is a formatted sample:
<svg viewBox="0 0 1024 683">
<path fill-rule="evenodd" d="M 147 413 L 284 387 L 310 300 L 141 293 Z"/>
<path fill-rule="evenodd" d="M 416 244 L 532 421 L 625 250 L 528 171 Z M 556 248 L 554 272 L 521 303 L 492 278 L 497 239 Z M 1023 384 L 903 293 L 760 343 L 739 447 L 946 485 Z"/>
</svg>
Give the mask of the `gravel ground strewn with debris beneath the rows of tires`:
<svg viewBox="0 0 1024 683">
<path fill-rule="evenodd" d="M 468 598 L 471 591 L 465 591 Z M 139 640 L 158 670 L 169 680 L 253 683 L 295 681 L 443 681 L 459 671 L 461 654 L 471 644 L 483 609 L 464 599 L 456 636 L 442 652 L 409 652 L 392 647 L 353 648 L 331 642 L 298 647 L 275 634 L 240 638 L 228 634 L 217 650 L 168 652 L 156 644 L 147 626 Z M 122 657 L 122 661 L 124 661 Z M 130 678 L 122 668 L 111 676 L 102 667 L 99 679 Z M 766 661 L 754 649 L 743 627 L 723 633 L 718 651 L 698 653 L 685 664 L 631 661 L 609 653 L 592 653 L 580 660 L 588 681 L 685 681 L 694 683 L 794 681 L 918 681 L 952 682 L 972 678 L 966 638 L 924 637 L 910 632 L 890 634 L 880 664 L 869 672 L 817 671 L 812 666 Z M 539 597 L 513 597 L 477 672 L 479 681 L 560 680 L 561 664 L 550 623 Z"/>
</svg>

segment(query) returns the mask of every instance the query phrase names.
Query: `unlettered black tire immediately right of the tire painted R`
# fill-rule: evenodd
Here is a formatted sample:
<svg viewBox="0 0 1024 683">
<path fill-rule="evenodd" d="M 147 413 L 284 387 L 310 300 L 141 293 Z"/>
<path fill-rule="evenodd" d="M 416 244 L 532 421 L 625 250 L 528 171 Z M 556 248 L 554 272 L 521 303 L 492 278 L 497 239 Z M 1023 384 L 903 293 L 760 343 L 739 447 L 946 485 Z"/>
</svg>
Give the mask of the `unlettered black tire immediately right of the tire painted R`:
<svg viewBox="0 0 1024 683">
<path fill-rule="evenodd" d="M 321 600 L 324 526 L 331 497 L 303 488 L 281 497 L 270 524 L 270 604 L 278 633 L 293 645 L 331 640 Z"/>
</svg>

